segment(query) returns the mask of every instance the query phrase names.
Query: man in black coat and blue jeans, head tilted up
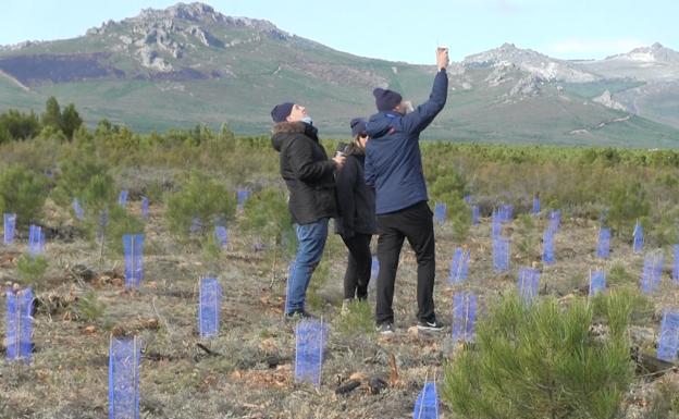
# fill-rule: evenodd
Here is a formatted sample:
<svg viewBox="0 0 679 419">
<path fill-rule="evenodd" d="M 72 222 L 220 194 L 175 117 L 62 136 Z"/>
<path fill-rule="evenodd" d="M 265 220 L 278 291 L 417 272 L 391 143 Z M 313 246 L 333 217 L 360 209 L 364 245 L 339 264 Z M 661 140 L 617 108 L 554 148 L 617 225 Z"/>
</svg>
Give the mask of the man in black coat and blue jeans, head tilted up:
<svg viewBox="0 0 679 419">
<path fill-rule="evenodd" d="M 271 111 L 271 144 L 280 153 L 281 176 L 289 192 L 288 209 L 297 233 L 297 256 L 287 279 L 285 316 L 309 317 L 305 310 L 311 274 L 321 261 L 328 238 L 328 221 L 337 215 L 335 171 L 345 157 L 328 159 L 318 130 L 305 107 L 285 102 Z"/>
</svg>

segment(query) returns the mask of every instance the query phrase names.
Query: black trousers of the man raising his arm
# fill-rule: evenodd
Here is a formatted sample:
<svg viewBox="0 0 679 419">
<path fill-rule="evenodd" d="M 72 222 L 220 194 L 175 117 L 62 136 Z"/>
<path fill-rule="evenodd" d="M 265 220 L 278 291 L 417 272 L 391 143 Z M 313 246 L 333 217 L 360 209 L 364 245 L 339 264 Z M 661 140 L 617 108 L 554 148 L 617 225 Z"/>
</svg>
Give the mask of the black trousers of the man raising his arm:
<svg viewBox="0 0 679 419">
<path fill-rule="evenodd" d="M 378 305 L 375 321 L 378 324 L 394 322 L 394 283 L 404 239 L 408 243 L 417 258 L 417 301 L 418 320 L 433 321 L 434 313 L 434 275 L 436 255 L 434 246 L 433 213 L 427 201 L 412 207 L 378 215 Z"/>
</svg>

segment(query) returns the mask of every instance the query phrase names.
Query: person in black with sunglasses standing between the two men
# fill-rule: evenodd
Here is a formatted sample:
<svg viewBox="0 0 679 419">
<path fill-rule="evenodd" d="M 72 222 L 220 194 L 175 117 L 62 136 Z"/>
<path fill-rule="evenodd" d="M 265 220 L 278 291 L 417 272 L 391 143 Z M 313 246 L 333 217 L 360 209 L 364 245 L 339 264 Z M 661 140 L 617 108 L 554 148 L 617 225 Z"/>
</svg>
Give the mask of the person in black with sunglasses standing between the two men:
<svg viewBox="0 0 679 419">
<path fill-rule="evenodd" d="M 368 297 L 368 282 L 372 266 L 370 241 L 376 233 L 375 201 L 373 188 L 366 185 L 363 167 L 366 164 L 366 121 L 351 120 L 354 141 L 346 146 L 346 162 L 337 172 L 337 202 L 340 218 L 335 220 L 335 232 L 340 234 L 348 249 L 347 269 L 344 274 L 344 304 Z"/>
</svg>

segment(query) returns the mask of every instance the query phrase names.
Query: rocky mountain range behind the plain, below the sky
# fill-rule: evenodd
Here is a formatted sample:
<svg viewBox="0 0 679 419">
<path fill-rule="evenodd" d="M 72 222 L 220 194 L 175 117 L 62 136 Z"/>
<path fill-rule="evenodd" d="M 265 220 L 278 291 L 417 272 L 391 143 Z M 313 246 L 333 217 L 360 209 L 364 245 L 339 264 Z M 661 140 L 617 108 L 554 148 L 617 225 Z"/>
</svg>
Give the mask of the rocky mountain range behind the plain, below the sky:
<svg viewBox="0 0 679 419">
<path fill-rule="evenodd" d="M 90 125 L 108 118 L 149 132 L 226 122 L 237 133 L 267 134 L 272 104 L 296 100 L 325 136 L 344 136 L 350 118 L 373 112 L 373 87 L 422 101 L 434 69 L 351 56 L 267 21 L 180 3 L 74 39 L 0 48 L 0 110 L 39 109 L 55 96 L 76 103 Z M 676 116 L 655 106 L 658 95 L 630 94 L 649 89 L 645 81 L 621 82 L 591 63 L 505 44 L 454 63 L 450 78 L 448 106 L 427 138 L 629 147 L 679 140 Z M 596 95 L 582 96 L 579 86 Z M 593 100 L 606 90 L 621 107 Z"/>
</svg>

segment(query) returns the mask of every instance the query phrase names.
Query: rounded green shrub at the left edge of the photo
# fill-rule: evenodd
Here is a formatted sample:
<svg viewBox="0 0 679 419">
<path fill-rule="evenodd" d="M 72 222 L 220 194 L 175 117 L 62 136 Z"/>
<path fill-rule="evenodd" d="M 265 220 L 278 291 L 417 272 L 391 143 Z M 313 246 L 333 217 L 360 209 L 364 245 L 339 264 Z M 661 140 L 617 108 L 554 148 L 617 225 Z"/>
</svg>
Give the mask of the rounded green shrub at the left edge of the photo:
<svg viewBox="0 0 679 419">
<path fill-rule="evenodd" d="M 45 176 L 13 164 L 0 173 L 0 214 L 16 214 L 18 225 L 37 223 L 42 218 L 47 199 Z"/>
</svg>

